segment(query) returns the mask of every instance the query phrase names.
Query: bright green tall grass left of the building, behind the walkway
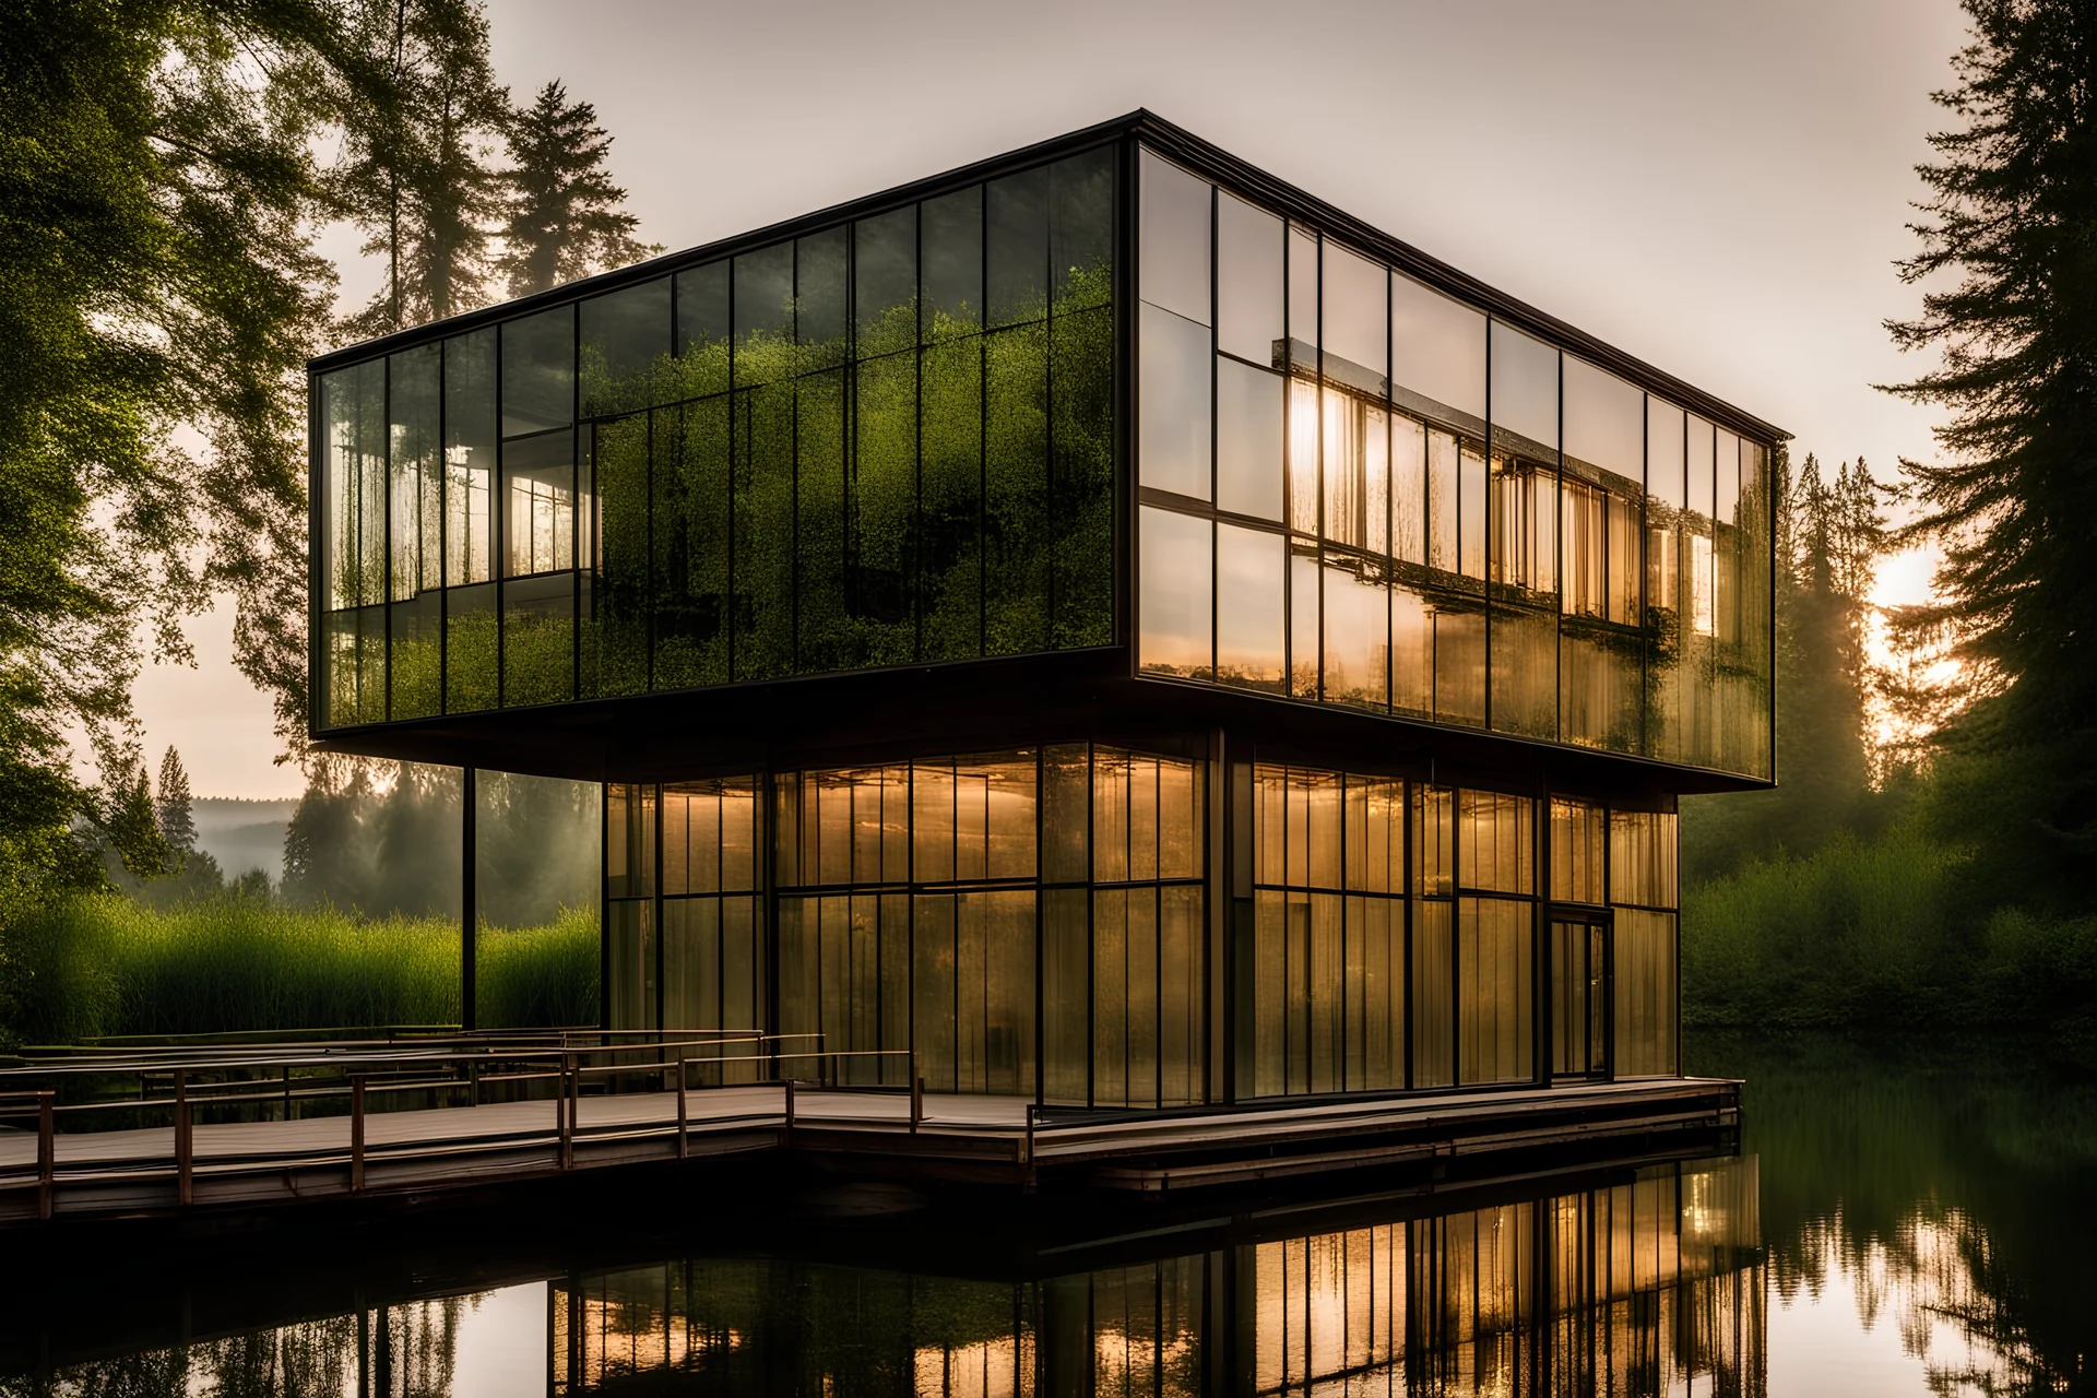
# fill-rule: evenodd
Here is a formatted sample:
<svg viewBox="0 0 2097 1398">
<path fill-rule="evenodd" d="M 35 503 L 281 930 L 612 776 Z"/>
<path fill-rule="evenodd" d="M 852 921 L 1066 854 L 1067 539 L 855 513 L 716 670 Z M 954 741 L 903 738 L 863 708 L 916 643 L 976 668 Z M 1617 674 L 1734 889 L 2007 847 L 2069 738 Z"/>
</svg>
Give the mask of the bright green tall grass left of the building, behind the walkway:
<svg viewBox="0 0 2097 1398">
<path fill-rule="evenodd" d="M 218 899 L 71 897 L 0 924 L 0 1037 L 442 1025 L 459 1019 L 459 926 Z M 598 1019 L 598 918 L 484 929 L 480 1023 Z"/>
</svg>

